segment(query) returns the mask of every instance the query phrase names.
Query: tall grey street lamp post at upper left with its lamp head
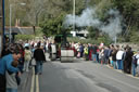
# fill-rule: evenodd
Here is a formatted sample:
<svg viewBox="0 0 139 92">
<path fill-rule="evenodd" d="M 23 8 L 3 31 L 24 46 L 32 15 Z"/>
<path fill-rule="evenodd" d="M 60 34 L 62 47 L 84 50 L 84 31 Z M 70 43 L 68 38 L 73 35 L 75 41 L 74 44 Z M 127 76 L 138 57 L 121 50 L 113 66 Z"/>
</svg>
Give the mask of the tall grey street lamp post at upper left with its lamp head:
<svg viewBox="0 0 139 92">
<path fill-rule="evenodd" d="M 20 5 L 25 5 L 26 3 L 18 3 Z M 10 31 L 9 31 L 9 38 L 10 38 L 10 43 L 12 42 L 12 6 L 13 4 L 10 4 Z"/>
</svg>

